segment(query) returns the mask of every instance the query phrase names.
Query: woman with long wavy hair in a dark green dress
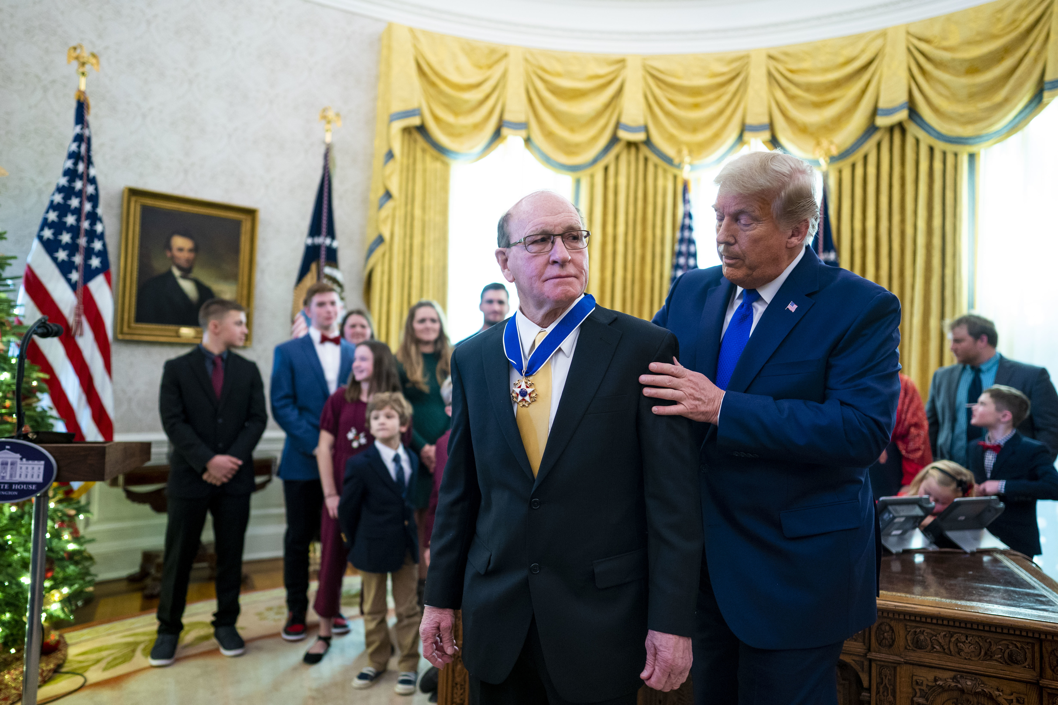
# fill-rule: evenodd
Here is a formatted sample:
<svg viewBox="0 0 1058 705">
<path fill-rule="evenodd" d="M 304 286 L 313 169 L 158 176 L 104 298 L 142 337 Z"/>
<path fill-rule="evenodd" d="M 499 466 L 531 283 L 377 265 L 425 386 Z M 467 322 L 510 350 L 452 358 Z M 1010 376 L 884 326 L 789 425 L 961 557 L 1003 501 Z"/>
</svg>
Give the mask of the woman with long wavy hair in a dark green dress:
<svg viewBox="0 0 1058 705">
<path fill-rule="evenodd" d="M 451 420 L 444 413 L 441 383 L 452 370 L 452 344 L 444 332 L 444 314 L 435 301 L 422 300 L 412 307 L 404 321 L 404 335 L 397 350 L 401 391 L 412 403 L 412 450 L 422 461 L 412 491 L 415 520 L 419 525 L 419 550 L 423 550 L 426 506 L 434 487 L 435 444 Z M 421 558 L 421 555 L 420 555 Z M 419 561 L 419 588 L 424 585 L 426 564 Z M 421 601 L 421 600 L 420 600 Z"/>
</svg>

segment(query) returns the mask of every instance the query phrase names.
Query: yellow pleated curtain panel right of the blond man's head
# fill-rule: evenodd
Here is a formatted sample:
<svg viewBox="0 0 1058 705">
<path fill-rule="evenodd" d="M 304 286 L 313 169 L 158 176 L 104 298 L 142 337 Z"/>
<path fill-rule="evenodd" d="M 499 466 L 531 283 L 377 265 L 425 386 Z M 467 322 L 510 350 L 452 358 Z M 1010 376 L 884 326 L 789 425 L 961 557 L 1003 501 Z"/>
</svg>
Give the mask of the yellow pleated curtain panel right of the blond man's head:
<svg viewBox="0 0 1058 705">
<path fill-rule="evenodd" d="M 900 363 L 925 393 L 951 364 L 944 321 L 964 312 L 961 214 L 965 154 L 897 125 L 829 171 L 829 214 L 841 266 L 900 299 Z"/>
</svg>

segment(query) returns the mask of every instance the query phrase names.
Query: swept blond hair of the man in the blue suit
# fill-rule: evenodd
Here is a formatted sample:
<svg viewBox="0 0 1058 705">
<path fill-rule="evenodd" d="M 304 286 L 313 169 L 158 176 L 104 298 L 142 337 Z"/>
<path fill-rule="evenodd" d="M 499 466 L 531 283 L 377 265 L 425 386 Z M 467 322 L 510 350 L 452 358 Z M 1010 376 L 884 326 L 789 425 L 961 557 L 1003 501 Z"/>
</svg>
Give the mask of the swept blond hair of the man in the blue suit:
<svg viewBox="0 0 1058 705">
<path fill-rule="evenodd" d="M 713 183 L 748 196 L 771 200 L 771 217 L 780 227 L 808 221 L 808 237 L 819 228 L 816 170 L 807 162 L 776 149 L 750 152 L 720 169 Z"/>
</svg>

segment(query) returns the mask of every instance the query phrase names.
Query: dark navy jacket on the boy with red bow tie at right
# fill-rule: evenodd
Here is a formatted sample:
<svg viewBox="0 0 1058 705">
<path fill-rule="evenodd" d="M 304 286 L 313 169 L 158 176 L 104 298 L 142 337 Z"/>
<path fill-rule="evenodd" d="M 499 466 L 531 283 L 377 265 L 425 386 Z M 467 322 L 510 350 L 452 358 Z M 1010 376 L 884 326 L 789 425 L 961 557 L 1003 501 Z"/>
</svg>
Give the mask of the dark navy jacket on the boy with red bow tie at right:
<svg viewBox="0 0 1058 705">
<path fill-rule="evenodd" d="M 989 478 L 985 476 L 985 449 L 974 441 L 970 444 L 970 470 L 978 484 L 985 480 L 1006 480 L 1005 491 L 1000 495 L 1006 508 L 989 524 L 988 531 L 1026 556 L 1043 553 L 1036 523 L 1036 500 L 1058 499 L 1058 471 L 1047 447 L 1015 433 L 996 456 Z"/>
</svg>

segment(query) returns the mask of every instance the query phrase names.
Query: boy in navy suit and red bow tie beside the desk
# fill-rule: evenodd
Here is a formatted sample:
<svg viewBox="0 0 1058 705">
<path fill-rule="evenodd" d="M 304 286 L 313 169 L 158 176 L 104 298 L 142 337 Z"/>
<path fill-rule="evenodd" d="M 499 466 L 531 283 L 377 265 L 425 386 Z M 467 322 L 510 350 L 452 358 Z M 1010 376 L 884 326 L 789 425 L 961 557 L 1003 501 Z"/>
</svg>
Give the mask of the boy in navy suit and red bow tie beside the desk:
<svg viewBox="0 0 1058 705">
<path fill-rule="evenodd" d="M 993 385 L 971 408 L 970 424 L 988 430 L 984 441 L 970 446 L 977 496 L 998 495 L 1006 504 L 988 531 L 1015 551 L 1037 556 L 1043 551 L 1036 500 L 1058 499 L 1058 472 L 1045 445 L 1015 430 L 1028 415 L 1028 397 L 1014 387 Z"/>
</svg>

